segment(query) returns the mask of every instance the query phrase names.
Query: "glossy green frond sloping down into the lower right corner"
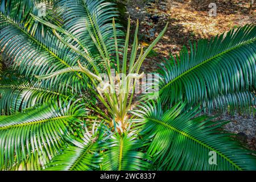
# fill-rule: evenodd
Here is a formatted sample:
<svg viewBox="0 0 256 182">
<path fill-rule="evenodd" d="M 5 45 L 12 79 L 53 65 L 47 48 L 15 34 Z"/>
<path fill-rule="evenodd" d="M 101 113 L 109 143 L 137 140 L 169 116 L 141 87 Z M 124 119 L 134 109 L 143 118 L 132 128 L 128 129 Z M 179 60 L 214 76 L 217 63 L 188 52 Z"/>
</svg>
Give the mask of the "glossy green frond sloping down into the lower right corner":
<svg viewBox="0 0 256 182">
<path fill-rule="evenodd" d="M 144 118 L 140 134 L 152 138 L 148 154 L 158 170 L 255 170 L 256 157 L 229 134 L 220 130 L 225 122 L 195 117 L 197 108 L 185 104 L 162 110 L 160 102 L 143 104 L 137 115 Z M 136 113 L 135 113 L 136 114 Z M 212 153 L 216 165 L 210 164 Z M 212 160 L 211 160 L 212 161 Z"/>
</svg>

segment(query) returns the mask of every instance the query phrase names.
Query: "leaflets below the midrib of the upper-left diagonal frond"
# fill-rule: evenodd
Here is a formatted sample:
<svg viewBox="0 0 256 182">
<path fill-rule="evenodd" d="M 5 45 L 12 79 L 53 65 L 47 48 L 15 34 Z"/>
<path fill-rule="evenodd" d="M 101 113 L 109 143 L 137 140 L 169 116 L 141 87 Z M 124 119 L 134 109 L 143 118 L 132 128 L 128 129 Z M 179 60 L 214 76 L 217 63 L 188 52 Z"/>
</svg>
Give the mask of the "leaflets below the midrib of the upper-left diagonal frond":
<svg viewBox="0 0 256 182">
<path fill-rule="evenodd" d="M 3 57 L 9 59 L 14 64 L 14 68 L 19 67 L 20 72 L 26 69 L 27 76 L 40 75 L 40 72 L 47 73 L 56 67 L 64 68 L 68 65 L 51 51 L 51 47 L 54 48 L 56 43 L 48 42 L 49 47 L 43 45 L 2 13 L 0 14 L 0 28 L 0 46 L 3 48 Z M 47 38 L 50 39 L 51 36 Z"/>
</svg>

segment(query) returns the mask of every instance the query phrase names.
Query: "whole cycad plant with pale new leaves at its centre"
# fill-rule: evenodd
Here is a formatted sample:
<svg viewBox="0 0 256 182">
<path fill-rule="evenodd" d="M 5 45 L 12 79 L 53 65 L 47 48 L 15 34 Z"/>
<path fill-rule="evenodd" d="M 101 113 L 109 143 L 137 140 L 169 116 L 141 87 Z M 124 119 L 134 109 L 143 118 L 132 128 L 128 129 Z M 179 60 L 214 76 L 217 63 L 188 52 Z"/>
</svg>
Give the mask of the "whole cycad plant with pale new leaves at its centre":
<svg viewBox="0 0 256 182">
<path fill-rule="evenodd" d="M 168 24 L 143 48 L 116 16 L 104 0 L 1 0 L 0 169 L 255 170 L 206 114 L 254 114 L 256 26 L 184 47 L 135 102 Z"/>
</svg>

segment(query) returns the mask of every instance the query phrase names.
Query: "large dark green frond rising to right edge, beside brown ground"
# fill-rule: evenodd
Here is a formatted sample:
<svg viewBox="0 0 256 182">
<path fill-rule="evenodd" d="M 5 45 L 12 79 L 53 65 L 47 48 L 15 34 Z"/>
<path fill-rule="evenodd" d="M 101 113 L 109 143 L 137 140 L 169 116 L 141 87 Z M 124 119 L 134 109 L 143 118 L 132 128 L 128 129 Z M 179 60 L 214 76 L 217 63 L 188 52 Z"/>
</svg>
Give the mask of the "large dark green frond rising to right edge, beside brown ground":
<svg viewBox="0 0 256 182">
<path fill-rule="evenodd" d="M 202 39 L 190 49 L 188 53 L 184 47 L 179 57 L 161 66 L 159 88 L 164 103 L 183 100 L 197 105 L 256 85 L 256 26 Z"/>
</svg>

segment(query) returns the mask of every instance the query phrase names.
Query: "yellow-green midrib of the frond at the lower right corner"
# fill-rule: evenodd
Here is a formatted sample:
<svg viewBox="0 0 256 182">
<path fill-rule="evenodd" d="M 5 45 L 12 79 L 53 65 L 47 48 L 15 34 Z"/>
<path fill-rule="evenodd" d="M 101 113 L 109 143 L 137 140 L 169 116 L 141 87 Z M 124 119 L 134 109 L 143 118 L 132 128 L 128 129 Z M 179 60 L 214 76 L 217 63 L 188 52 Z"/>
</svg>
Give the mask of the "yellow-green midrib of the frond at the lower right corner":
<svg viewBox="0 0 256 182">
<path fill-rule="evenodd" d="M 153 118 L 148 118 L 148 119 L 150 119 L 150 120 L 153 121 L 153 122 L 157 122 L 157 123 L 159 123 L 160 125 L 166 126 L 166 127 L 168 127 L 169 129 L 174 130 L 175 132 L 177 132 L 177 133 L 179 133 L 179 134 L 181 134 L 181 135 L 184 135 L 184 137 L 187 137 L 187 138 L 189 138 L 189 139 L 191 139 L 191 140 L 193 140 L 193 141 L 199 143 L 201 146 L 203 146 L 203 147 L 205 147 L 205 148 L 208 148 L 208 149 L 211 150 L 211 151 L 215 151 L 218 155 L 220 155 L 222 158 L 224 158 L 224 159 L 227 160 L 230 164 L 232 164 L 234 167 L 236 167 L 236 168 L 238 169 L 238 171 L 242 171 L 242 168 L 241 168 L 241 167 L 239 167 L 236 163 L 234 163 L 232 160 L 230 160 L 230 159 L 229 159 L 228 157 L 226 157 L 224 154 L 222 154 L 221 152 L 217 151 L 216 149 L 214 149 L 214 148 L 208 146 L 207 144 L 201 142 L 200 140 L 197 140 L 196 138 L 194 138 L 194 137 L 192 137 L 192 136 L 190 136 L 190 135 L 184 133 L 183 131 L 180 131 L 180 130 L 176 129 L 175 127 L 172 127 L 172 126 L 168 125 L 167 123 L 164 123 L 164 122 L 162 122 L 162 121 L 160 121 L 160 120 L 158 120 L 158 119 L 153 119 Z"/>
</svg>

